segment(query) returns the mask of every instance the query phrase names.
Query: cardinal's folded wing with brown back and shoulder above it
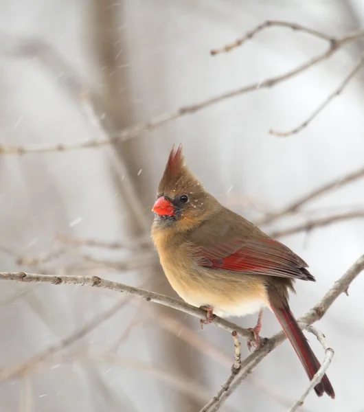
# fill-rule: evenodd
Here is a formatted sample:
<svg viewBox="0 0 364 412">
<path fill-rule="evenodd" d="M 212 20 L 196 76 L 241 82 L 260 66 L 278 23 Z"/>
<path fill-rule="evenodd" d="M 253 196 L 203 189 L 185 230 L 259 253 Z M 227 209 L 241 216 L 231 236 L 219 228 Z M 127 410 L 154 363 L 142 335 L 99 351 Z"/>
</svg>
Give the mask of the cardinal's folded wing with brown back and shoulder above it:
<svg viewBox="0 0 364 412">
<path fill-rule="evenodd" d="M 214 216 L 214 225 L 207 222 L 191 238 L 201 266 L 315 281 L 306 262 L 291 249 L 228 209 Z"/>
</svg>

